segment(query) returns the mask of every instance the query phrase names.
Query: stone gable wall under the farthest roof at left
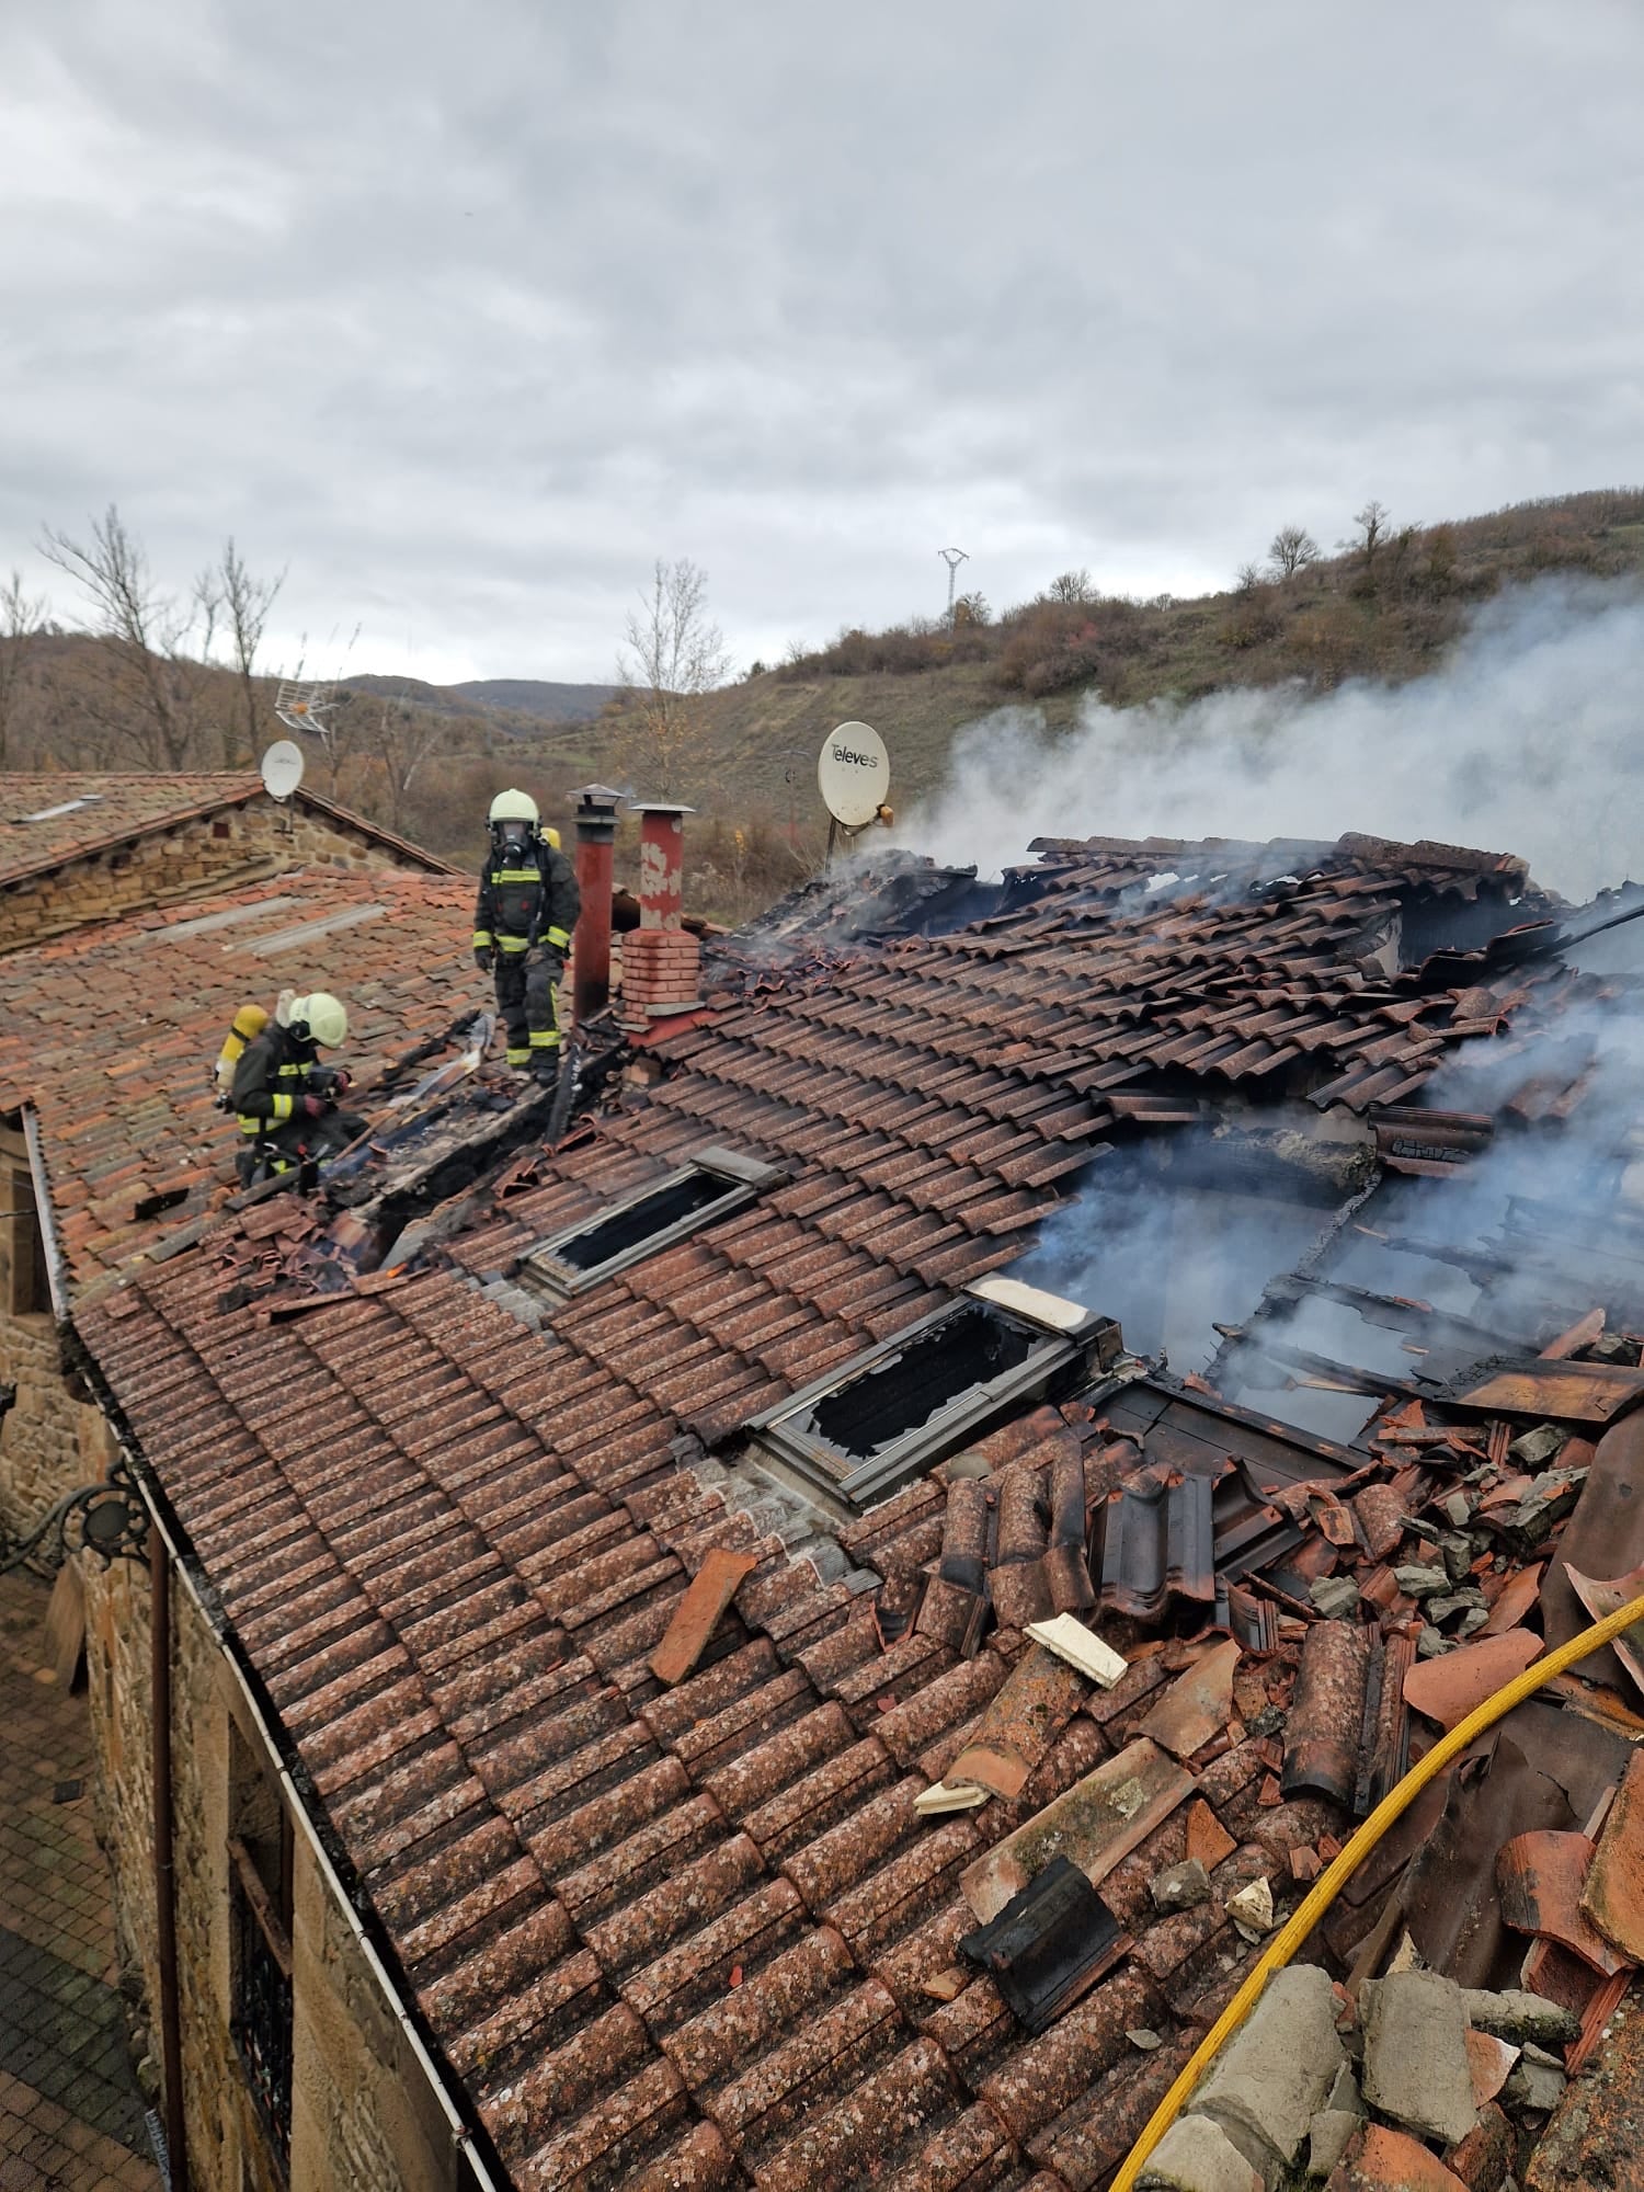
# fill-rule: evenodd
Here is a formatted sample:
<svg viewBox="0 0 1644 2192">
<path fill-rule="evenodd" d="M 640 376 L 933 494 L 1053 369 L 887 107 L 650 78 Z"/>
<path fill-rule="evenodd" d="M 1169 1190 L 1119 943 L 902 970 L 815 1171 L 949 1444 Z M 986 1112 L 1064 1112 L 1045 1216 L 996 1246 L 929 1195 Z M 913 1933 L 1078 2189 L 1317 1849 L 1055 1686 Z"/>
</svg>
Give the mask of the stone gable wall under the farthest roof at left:
<svg viewBox="0 0 1644 2192">
<path fill-rule="evenodd" d="M 397 868 L 403 855 L 364 831 L 281 804 L 259 791 L 237 807 L 129 837 L 0 886 L 0 951 L 61 936 L 88 921 L 204 897 L 285 868 Z"/>
</svg>

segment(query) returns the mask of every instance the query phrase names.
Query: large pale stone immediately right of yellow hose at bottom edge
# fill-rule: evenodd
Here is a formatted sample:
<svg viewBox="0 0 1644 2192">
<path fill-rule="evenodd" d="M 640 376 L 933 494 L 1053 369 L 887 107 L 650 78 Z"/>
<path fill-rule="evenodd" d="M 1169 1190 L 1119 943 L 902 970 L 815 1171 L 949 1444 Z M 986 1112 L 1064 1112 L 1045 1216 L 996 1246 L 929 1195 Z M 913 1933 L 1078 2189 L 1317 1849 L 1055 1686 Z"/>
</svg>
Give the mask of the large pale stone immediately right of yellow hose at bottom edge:
<svg viewBox="0 0 1644 2192">
<path fill-rule="evenodd" d="M 1317 1964 L 1289 1964 L 1267 1982 L 1190 2109 L 1217 2122 L 1271 2188 L 1300 2155 L 1346 2060 L 1335 1988 Z"/>
</svg>

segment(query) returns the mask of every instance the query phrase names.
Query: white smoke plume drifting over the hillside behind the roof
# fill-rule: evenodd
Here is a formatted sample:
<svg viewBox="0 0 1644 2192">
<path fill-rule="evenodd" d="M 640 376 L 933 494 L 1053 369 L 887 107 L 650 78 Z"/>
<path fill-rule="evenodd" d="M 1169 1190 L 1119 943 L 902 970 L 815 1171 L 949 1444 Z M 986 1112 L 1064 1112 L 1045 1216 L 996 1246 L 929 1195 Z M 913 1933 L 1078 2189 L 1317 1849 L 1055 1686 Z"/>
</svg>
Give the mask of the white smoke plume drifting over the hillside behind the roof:
<svg viewBox="0 0 1644 2192">
<path fill-rule="evenodd" d="M 892 732 L 894 741 L 894 732 Z M 1236 688 L 971 723 L 901 837 L 984 877 L 1032 837 L 1436 837 L 1519 853 L 1567 899 L 1644 875 L 1644 592 L 1543 579 L 1407 684 Z"/>
</svg>

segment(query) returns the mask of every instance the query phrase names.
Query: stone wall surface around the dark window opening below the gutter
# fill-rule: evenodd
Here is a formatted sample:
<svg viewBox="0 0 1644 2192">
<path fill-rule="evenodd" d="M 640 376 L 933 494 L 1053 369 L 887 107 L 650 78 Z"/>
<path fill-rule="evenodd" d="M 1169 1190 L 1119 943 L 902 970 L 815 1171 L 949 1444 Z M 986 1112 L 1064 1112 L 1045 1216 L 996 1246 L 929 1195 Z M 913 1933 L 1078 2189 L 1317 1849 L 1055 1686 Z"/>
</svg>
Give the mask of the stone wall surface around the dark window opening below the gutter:
<svg viewBox="0 0 1644 2192">
<path fill-rule="evenodd" d="M 121 1982 L 149 2076 L 160 2060 L 149 1719 L 149 1574 L 85 1569 L 96 1824 L 114 1872 Z M 173 1580 L 173 1811 L 184 2109 L 195 2192 L 452 2192 L 438 2102 L 359 1955 L 305 1833 L 292 1835 L 294 2100 L 289 2179 L 270 2155 L 230 2032 L 228 1835 L 248 1771 L 278 1802 L 235 1675 Z"/>
</svg>

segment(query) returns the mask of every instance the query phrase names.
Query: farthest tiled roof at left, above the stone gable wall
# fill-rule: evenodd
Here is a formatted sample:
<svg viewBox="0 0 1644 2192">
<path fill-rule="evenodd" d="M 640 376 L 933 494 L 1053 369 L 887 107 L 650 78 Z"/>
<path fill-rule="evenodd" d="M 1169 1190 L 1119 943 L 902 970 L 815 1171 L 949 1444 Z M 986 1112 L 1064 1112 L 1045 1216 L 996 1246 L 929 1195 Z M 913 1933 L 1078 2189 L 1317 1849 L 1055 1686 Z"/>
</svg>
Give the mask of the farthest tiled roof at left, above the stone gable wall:
<svg viewBox="0 0 1644 2192">
<path fill-rule="evenodd" d="M 0 888 L 28 875 L 61 868 L 64 861 L 127 844 L 132 837 L 175 829 L 197 815 L 243 807 L 259 798 L 267 798 L 267 789 L 254 769 L 202 769 L 175 776 L 0 774 Z M 434 875 L 452 872 L 447 861 L 406 837 L 397 837 L 381 824 L 320 798 L 318 791 L 298 789 L 294 804 L 373 837 L 408 868 Z"/>
</svg>

